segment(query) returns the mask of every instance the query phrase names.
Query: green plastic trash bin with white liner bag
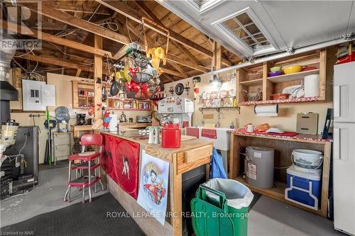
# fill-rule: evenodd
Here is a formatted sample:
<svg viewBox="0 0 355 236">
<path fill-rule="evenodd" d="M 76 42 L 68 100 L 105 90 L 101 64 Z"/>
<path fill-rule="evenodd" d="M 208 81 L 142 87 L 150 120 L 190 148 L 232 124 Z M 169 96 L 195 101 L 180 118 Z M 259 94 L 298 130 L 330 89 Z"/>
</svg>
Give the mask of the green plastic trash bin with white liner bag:
<svg viewBox="0 0 355 236">
<path fill-rule="evenodd" d="M 197 236 L 248 235 L 248 209 L 253 193 L 233 179 L 211 179 L 191 201 L 192 227 Z"/>
</svg>

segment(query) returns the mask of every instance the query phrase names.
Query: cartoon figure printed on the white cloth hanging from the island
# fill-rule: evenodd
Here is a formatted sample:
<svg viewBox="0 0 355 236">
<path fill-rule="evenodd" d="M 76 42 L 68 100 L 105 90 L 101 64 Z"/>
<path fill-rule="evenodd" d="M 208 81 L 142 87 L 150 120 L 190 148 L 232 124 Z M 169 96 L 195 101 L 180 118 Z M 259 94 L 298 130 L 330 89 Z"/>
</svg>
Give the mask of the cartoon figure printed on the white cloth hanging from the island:
<svg viewBox="0 0 355 236">
<path fill-rule="evenodd" d="M 166 188 L 163 179 L 160 179 L 160 169 L 153 163 L 146 165 L 144 176 L 144 191 L 153 203 L 160 205 L 160 201 L 165 197 Z"/>
</svg>

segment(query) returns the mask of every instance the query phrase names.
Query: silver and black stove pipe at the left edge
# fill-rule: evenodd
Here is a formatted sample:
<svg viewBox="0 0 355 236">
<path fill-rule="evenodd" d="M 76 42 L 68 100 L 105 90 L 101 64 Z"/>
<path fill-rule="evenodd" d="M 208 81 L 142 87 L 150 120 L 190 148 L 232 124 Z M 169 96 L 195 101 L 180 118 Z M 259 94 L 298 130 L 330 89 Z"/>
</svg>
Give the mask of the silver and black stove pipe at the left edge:
<svg viewBox="0 0 355 236">
<path fill-rule="evenodd" d="M 0 29 L 0 120 L 1 123 L 10 119 L 10 101 L 18 101 L 18 90 L 9 83 L 11 60 L 16 48 L 6 47 L 4 40 L 13 40 L 11 35 Z"/>
</svg>

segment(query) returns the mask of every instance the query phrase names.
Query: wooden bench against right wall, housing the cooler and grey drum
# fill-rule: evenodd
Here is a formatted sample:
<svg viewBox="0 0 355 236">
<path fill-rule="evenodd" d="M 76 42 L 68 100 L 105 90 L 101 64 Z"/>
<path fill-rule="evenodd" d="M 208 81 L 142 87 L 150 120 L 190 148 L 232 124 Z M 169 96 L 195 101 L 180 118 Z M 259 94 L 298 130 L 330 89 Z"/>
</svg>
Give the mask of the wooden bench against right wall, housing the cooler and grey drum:
<svg viewBox="0 0 355 236">
<path fill-rule="evenodd" d="M 323 140 L 317 135 L 296 135 L 294 137 L 282 137 L 261 135 L 257 133 L 244 133 L 236 130 L 231 132 L 231 150 L 229 158 L 229 178 L 236 179 L 255 191 L 278 201 L 283 201 L 290 205 L 309 210 L 313 213 L 327 216 L 328 190 L 329 190 L 329 165 L 331 155 L 331 140 Z M 241 176 L 241 167 L 244 166 L 241 157 L 241 147 L 257 146 L 271 147 L 275 150 L 274 164 L 274 187 L 273 189 L 259 189 L 246 183 Z M 291 153 L 294 149 L 309 149 L 323 152 L 323 171 L 322 171 L 322 198 L 320 199 L 320 208 L 312 210 L 297 203 L 285 199 L 286 188 L 286 169 L 292 164 Z M 280 168 L 281 167 L 281 168 Z"/>
</svg>

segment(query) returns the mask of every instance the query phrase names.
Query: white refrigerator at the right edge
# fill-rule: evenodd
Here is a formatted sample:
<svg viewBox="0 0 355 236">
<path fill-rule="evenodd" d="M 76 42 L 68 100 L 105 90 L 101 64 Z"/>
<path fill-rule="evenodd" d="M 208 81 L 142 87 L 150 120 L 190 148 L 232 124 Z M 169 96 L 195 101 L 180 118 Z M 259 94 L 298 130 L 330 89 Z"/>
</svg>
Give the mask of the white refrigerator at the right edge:
<svg viewBox="0 0 355 236">
<path fill-rule="evenodd" d="M 355 235 L 355 62 L 334 66 L 334 227 Z"/>
</svg>

